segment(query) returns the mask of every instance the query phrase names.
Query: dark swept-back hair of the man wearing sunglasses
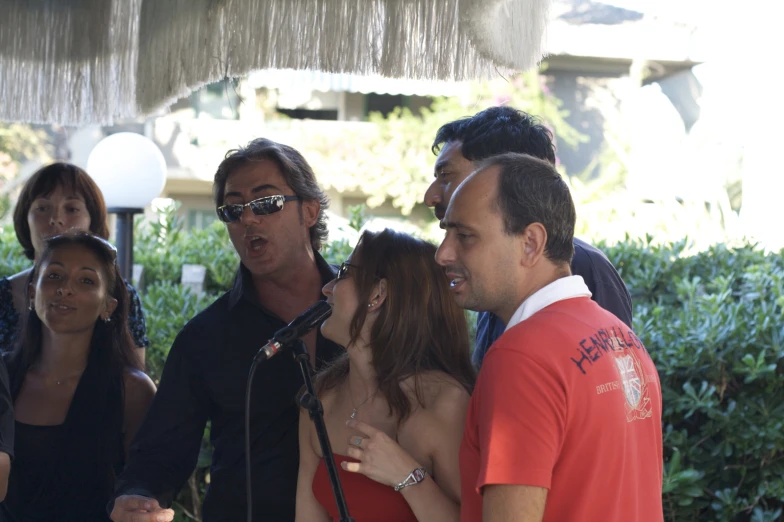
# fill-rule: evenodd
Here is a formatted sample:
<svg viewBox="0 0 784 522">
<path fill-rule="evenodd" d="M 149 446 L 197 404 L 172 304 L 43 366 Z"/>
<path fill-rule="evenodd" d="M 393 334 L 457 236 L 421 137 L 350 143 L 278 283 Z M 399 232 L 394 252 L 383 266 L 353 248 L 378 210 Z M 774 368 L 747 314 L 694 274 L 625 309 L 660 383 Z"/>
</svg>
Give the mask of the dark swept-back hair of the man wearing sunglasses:
<svg viewBox="0 0 784 522">
<path fill-rule="evenodd" d="M 226 191 L 226 180 L 237 168 L 253 161 L 270 160 L 280 169 L 286 184 L 291 187 L 294 194 L 302 201 L 318 201 L 321 204 L 318 219 L 310 227 L 310 244 L 313 250 L 320 250 L 321 245 L 327 240 L 327 218 L 325 212 L 329 207 L 326 193 L 318 186 L 316 175 L 305 158 L 293 147 L 276 143 L 266 138 L 256 138 L 244 147 L 232 149 L 218 165 L 215 172 L 215 181 L 212 186 L 212 195 L 215 206 L 223 205 L 223 196 Z"/>
</svg>

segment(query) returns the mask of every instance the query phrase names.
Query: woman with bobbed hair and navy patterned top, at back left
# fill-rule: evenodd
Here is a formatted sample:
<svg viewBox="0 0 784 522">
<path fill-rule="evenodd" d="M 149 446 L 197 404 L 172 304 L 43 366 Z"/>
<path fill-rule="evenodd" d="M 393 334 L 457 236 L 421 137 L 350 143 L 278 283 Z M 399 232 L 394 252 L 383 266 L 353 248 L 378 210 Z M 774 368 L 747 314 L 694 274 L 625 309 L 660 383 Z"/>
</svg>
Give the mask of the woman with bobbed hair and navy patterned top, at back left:
<svg viewBox="0 0 784 522">
<path fill-rule="evenodd" d="M 107 239 L 106 204 L 101 189 L 85 171 L 69 163 L 53 163 L 33 174 L 22 188 L 14 209 L 16 237 L 27 258 L 35 261 L 46 238 L 72 229 Z M 31 270 L 0 278 L 0 351 L 11 350 L 16 339 Z M 144 349 L 150 344 L 144 312 L 136 290 L 125 284 L 130 294 L 128 329 L 144 361 Z"/>
</svg>

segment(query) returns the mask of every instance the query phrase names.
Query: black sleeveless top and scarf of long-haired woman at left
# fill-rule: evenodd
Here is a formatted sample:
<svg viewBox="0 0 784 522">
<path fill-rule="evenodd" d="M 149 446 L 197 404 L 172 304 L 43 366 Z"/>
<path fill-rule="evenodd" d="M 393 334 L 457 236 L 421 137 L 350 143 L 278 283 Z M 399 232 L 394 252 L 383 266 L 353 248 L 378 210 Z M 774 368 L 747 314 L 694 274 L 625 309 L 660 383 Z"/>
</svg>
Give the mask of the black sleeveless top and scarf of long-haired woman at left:
<svg viewBox="0 0 784 522">
<path fill-rule="evenodd" d="M 109 521 L 106 505 L 125 464 L 122 375 L 107 389 L 101 373 L 108 372 L 101 372 L 94 359 L 91 354 L 63 424 L 15 423 L 14 461 L 0 521 Z M 24 376 L 14 375 L 12 366 L 15 399 Z M 111 429 L 107 422 L 117 424 L 116 419 L 120 424 Z"/>
</svg>

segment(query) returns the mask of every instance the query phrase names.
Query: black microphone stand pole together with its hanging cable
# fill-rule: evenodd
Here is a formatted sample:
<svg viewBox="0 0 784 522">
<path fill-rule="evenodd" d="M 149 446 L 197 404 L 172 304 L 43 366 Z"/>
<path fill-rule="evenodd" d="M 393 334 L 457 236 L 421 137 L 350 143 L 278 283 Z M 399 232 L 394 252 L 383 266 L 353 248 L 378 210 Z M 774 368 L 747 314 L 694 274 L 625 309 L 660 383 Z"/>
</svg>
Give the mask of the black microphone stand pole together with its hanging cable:
<svg viewBox="0 0 784 522">
<path fill-rule="evenodd" d="M 302 380 L 305 382 L 305 393 L 299 399 L 300 405 L 308 410 L 313 424 L 316 426 L 316 434 L 319 438 L 319 445 L 321 445 L 321 454 L 324 456 L 324 463 L 327 466 L 327 473 L 329 474 L 329 483 L 332 485 L 332 494 L 335 497 L 335 504 L 338 506 L 340 513 L 339 522 L 354 522 L 354 519 L 348 514 L 348 506 L 346 505 L 346 497 L 343 495 L 343 487 L 340 485 L 340 477 L 338 476 L 338 469 L 335 465 L 335 455 L 332 453 L 332 445 L 329 443 L 329 436 L 327 435 L 327 425 L 324 423 L 324 407 L 321 401 L 316 397 L 316 392 L 313 390 L 313 380 L 310 378 L 310 354 L 302 339 L 296 339 L 290 343 L 283 344 L 279 350 L 291 347 L 291 352 L 294 359 L 299 363 L 302 372 Z M 253 376 L 256 373 L 256 368 L 259 362 L 266 360 L 262 357 L 263 352 L 259 352 L 253 358 L 253 363 L 250 367 L 248 374 L 248 386 L 245 393 L 245 480 L 246 480 L 246 493 L 248 502 L 248 522 L 253 522 L 253 499 L 251 490 L 251 473 L 250 473 L 250 398 L 251 398 L 251 385 L 253 384 Z M 264 354 L 266 355 L 266 354 Z"/>
</svg>

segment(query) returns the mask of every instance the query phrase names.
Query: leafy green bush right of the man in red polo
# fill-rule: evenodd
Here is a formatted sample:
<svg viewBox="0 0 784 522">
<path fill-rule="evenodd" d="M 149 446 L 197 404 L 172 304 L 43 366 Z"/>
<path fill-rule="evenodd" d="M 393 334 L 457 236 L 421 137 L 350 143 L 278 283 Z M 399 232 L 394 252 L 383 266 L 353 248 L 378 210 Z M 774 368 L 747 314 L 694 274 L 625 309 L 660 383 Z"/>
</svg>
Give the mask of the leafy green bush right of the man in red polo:
<svg viewBox="0 0 784 522">
<path fill-rule="evenodd" d="M 752 246 L 685 248 L 604 248 L 661 378 L 665 519 L 781 520 L 784 261 Z"/>
</svg>

